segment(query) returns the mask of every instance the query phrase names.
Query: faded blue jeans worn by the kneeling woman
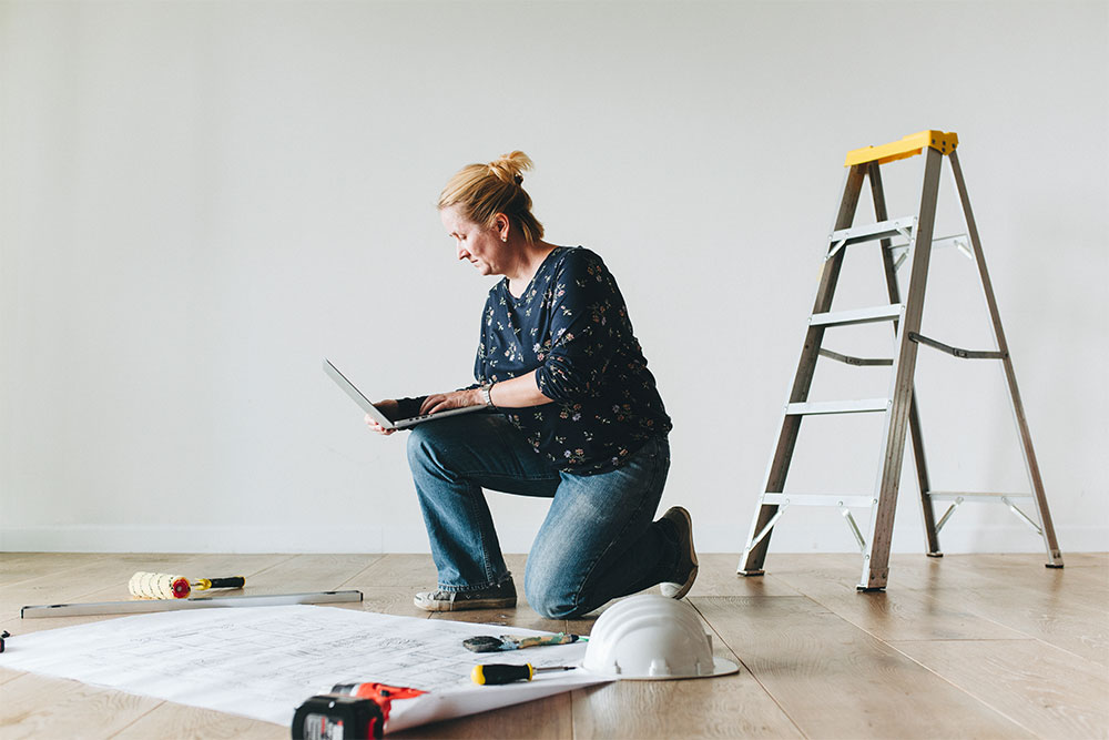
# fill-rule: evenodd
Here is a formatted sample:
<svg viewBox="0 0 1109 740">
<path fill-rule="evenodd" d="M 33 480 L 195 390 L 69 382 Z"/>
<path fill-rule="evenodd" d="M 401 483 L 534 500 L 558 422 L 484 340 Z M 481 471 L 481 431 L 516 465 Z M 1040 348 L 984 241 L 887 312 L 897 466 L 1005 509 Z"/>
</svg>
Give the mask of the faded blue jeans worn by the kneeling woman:
<svg viewBox="0 0 1109 740">
<path fill-rule="evenodd" d="M 408 464 L 441 590 L 481 590 L 512 577 L 482 488 L 551 499 L 525 574 L 528 604 L 545 617 L 578 617 L 668 580 L 675 568 L 678 546 L 652 521 L 670 468 L 665 437 L 614 470 L 571 475 L 502 416 L 466 414 L 414 427 Z"/>
</svg>

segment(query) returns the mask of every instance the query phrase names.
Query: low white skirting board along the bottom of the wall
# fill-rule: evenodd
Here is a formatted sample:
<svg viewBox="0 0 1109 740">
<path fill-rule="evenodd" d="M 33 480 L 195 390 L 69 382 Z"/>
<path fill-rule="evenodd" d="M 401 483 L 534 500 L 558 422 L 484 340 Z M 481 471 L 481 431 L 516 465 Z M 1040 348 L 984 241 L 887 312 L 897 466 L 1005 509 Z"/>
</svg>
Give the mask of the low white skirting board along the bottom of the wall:
<svg viewBox="0 0 1109 740">
<path fill-rule="evenodd" d="M 536 523 L 538 528 L 539 523 Z M 735 525 L 703 524 L 693 519 L 694 540 L 701 553 L 740 553 L 749 521 Z M 1067 527 L 1056 523 L 1064 559 L 1067 553 L 1105 550 L 1109 527 Z M 527 553 L 535 529 L 501 531 L 505 553 Z M 1039 553 L 1042 540 L 1018 521 L 975 526 L 957 523 L 940 534 L 945 553 Z M 893 551 L 923 553 L 924 533 L 894 530 Z M 142 527 L 35 526 L 0 528 L 0 551 L 7 553 L 428 553 L 427 534 L 413 527 L 318 526 L 287 527 Z M 772 553 L 857 553 L 840 516 L 823 525 L 796 523 L 781 526 L 771 540 Z"/>
</svg>

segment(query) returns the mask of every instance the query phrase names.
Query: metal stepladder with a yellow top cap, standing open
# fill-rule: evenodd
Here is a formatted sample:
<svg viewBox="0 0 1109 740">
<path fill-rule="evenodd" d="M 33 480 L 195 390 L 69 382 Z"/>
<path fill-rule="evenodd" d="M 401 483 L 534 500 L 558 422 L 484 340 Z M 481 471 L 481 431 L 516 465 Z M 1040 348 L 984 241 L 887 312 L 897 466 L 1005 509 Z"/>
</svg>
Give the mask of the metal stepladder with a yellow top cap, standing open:
<svg viewBox="0 0 1109 740">
<path fill-rule="evenodd" d="M 1009 357 L 1008 345 L 1001 331 L 1001 320 L 994 300 L 994 290 L 989 274 L 986 272 L 986 261 L 983 256 L 981 243 L 974 215 L 970 212 L 970 201 L 967 196 L 966 183 L 959 168 L 955 149 L 958 136 L 955 133 L 942 131 L 922 131 L 901 141 L 882 146 L 867 146 L 847 153 L 845 165 L 847 173 L 844 179 L 843 196 L 835 225 L 828 237 L 827 253 L 821 273 L 816 301 L 813 306 L 808 331 L 805 335 L 801 361 L 785 405 L 781 433 L 771 456 L 766 470 L 763 493 L 759 497 L 759 507 L 751 523 L 743 556 L 740 559 L 739 572 L 743 576 L 761 576 L 766 549 L 774 526 L 790 506 L 832 506 L 840 509 L 847 521 L 852 534 L 863 554 L 863 574 L 857 586 L 858 590 L 882 590 L 886 587 L 889 575 L 889 546 L 893 535 L 894 511 L 897 504 L 897 488 L 901 481 L 902 463 L 904 460 L 906 427 L 910 432 L 913 456 L 916 462 L 917 480 L 920 488 L 920 506 L 924 514 L 924 526 L 927 535 L 928 555 L 942 557 L 939 549 L 939 530 L 947 523 L 955 509 L 967 500 L 995 500 L 1005 504 L 1022 521 L 1030 525 L 1042 538 L 1048 554 L 1049 568 L 1062 567 L 1062 555 L 1055 537 L 1055 527 L 1048 511 L 1047 498 L 1044 494 L 1044 483 L 1040 479 L 1039 466 L 1032 450 L 1031 436 L 1025 418 L 1024 406 L 1017 389 L 1017 379 L 1013 372 L 1013 361 Z M 879 165 L 895 160 L 902 160 L 924 154 L 924 186 L 920 193 L 919 210 L 916 215 L 903 219 L 889 219 L 886 213 L 885 194 L 882 189 Z M 950 162 L 952 174 L 958 190 L 963 214 L 966 220 L 967 234 L 947 240 L 933 240 L 933 227 L 936 217 L 936 201 L 939 190 L 939 175 L 944 159 Z M 864 179 L 869 180 L 874 213 L 877 223 L 865 226 L 852 226 L 855 210 L 863 189 Z M 904 244 L 895 245 L 893 240 L 904 240 Z M 831 311 L 832 298 L 843 265 L 846 250 L 855 244 L 879 242 L 882 262 L 885 271 L 888 305 L 862 308 L 855 311 Z M 920 335 L 920 317 L 924 312 L 925 285 L 928 278 L 928 261 L 935 246 L 952 244 L 971 256 L 978 267 L 981 286 L 986 294 L 994 330 L 996 349 L 969 351 L 953 347 L 936 339 Z M 902 301 L 896 271 L 902 262 L 909 262 L 908 290 Z M 873 322 L 891 322 L 894 328 L 894 356 L 892 358 L 862 358 L 843 355 L 823 348 L 824 333 L 828 328 Z M 920 422 L 917 416 L 916 397 L 913 388 L 913 375 L 916 367 L 916 353 L 919 345 L 945 352 L 964 359 L 1000 361 L 1008 384 L 1009 398 L 1017 424 L 1031 493 L 954 493 L 932 490 L 928 481 L 927 465 L 924 456 L 924 443 L 920 437 Z M 808 402 L 808 392 L 820 357 L 834 359 L 849 365 L 887 365 L 892 367 L 892 378 L 888 397 L 865 398 L 845 402 Z M 885 423 L 882 433 L 883 456 L 881 469 L 871 495 L 840 496 L 834 494 L 793 494 L 783 493 L 790 472 L 801 420 L 816 414 L 858 414 L 882 413 Z M 1031 498 L 1036 505 L 1039 521 L 1029 517 L 1016 506 L 1015 499 Z M 945 514 L 936 520 L 933 504 L 949 501 Z M 851 507 L 869 508 L 869 540 L 859 530 Z"/>
</svg>

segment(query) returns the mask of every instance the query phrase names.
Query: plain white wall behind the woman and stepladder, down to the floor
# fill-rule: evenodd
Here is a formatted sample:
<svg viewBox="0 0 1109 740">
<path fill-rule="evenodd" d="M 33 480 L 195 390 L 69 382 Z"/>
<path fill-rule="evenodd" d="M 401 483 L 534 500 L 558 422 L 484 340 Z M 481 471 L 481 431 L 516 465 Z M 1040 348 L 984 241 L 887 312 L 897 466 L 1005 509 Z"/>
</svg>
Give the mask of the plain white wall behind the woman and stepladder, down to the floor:
<svg viewBox="0 0 1109 740">
<path fill-rule="evenodd" d="M 1061 547 L 1105 549 L 1107 41 L 1103 2 L 0 3 L 0 549 L 425 551 L 404 436 L 321 357 L 379 396 L 469 382 L 489 280 L 435 199 L 522 149 L 548 236 L 627 295 L 675 420 L 663 506 L 739 551 L 844 153 L 927 128 L 960 138 Z M 893 215 L 920 161 L 885 169 Z M 984 348 L 971 263 L 933 266 L 924 333 Z M 841 285 L 881 303 L 876 253 Z M 1027 490 L 997 365 L 918 371 L 935 487 Z M 885 393 L 851 373 L 813 397 Z M 869 491 L 878 428 L 806 422 L 791 489 Z M 492 506 L 526 550 L 543 503 Z M 943 541 L 1042 547 L 1000 506 Z M 853 547 L 794 508 L 772 553 Z"/>
</svg>

